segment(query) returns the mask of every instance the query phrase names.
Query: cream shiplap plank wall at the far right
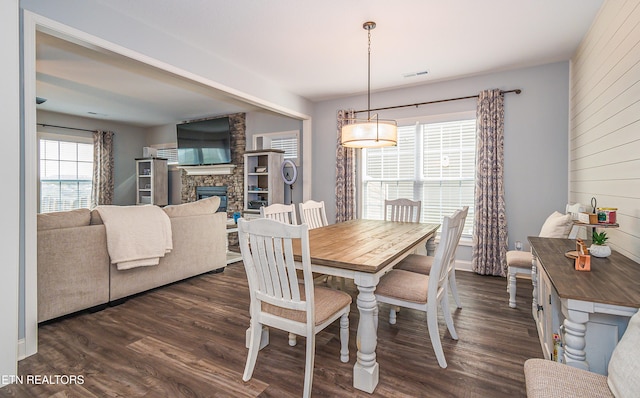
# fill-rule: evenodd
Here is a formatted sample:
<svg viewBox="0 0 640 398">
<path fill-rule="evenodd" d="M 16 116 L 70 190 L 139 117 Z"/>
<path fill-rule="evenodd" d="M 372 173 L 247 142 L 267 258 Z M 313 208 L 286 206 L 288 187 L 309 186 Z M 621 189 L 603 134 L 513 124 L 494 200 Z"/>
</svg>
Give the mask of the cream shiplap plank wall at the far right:
<svg viewBox="0 0 640 398">
<path fill-rule="evenodd" d="M 640 262 L 640 1 L 607 0 L 571 60 L 569 199 L 617 207 L 609 244 Z"/>
</svg>

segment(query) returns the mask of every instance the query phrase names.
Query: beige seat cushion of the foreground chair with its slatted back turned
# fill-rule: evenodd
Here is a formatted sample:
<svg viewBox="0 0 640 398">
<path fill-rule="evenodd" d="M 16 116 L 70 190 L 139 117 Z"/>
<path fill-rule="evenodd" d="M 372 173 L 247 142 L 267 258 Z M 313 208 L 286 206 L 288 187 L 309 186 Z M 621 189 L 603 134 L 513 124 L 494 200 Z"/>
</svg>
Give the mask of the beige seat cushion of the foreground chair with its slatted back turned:
<svg viewBox="0 0 640 398">
<path fill-rule="evenodd" d="M 303 284 L 300 284 L 300 296 L 301 300 L 306 297 Z M 351 305 L 351 296 L 340 290 L 316 286 L 314 289 L 314 304 L 315 324 L 321 325 L 336 312 Z M 262 311 L 296 322 L 304 323 L 307 321 L 305 311 L 290 310 L 264 302 L 262 303 Z"/>
</svg>

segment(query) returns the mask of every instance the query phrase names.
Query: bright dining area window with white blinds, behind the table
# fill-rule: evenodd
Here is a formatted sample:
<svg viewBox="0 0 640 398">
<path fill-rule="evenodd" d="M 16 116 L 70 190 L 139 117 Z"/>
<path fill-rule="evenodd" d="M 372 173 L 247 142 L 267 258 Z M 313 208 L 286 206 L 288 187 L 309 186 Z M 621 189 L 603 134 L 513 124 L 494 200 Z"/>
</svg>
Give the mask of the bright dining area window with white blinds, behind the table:
<svg viewBox="0 0 640 398">
<path fill-rule="evenodd" d="M 422 221 L 469 206 L 463 235 L 473 232 L 476 120 L 398 127 L 396 147 L 362 151 L 363 218 L 382 219 L 384 200 L 422 201 Z"/>
</svg>

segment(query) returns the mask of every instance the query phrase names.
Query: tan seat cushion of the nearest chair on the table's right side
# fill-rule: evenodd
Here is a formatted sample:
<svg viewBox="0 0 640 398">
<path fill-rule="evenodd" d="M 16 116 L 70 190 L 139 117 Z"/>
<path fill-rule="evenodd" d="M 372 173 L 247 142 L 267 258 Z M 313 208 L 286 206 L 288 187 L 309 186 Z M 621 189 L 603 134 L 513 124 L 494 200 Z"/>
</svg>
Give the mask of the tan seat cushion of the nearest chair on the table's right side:
<svg viewBox="0 0 640 398">
<path fill-rule="evenodd" d="M 390 297 L 417 304 L 426 304 L 428 289 L 428 275 L 394 269 L 380 278 L 375 294 L 376 296 Z"/>
</svg>

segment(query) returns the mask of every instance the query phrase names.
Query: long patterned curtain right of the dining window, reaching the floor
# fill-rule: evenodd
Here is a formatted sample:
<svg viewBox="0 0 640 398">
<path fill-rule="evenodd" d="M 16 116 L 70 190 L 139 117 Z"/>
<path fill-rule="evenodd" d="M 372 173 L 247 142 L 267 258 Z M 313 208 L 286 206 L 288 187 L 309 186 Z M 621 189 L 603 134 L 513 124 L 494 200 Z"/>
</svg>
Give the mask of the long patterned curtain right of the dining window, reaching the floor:
<svg viewBox="0 0 640 398">
<path fill-rule="evenodd" d="M 478 96 L 473 270 L 504 276 L 507 218 L 504 203 L 504 94 L 486 90 Z"/>
</svg>

